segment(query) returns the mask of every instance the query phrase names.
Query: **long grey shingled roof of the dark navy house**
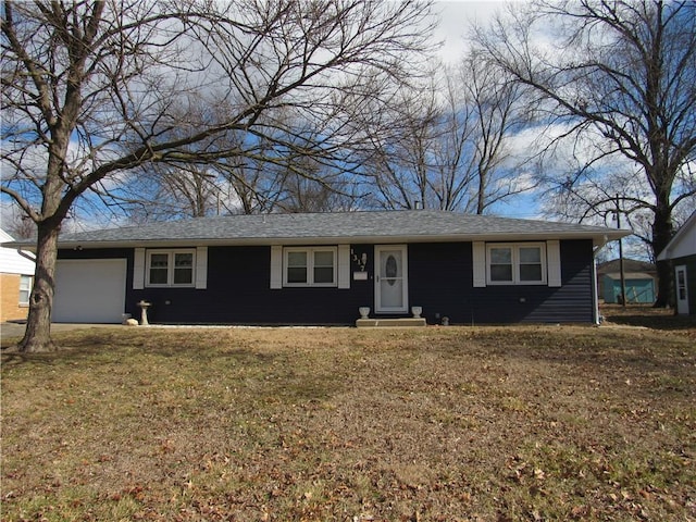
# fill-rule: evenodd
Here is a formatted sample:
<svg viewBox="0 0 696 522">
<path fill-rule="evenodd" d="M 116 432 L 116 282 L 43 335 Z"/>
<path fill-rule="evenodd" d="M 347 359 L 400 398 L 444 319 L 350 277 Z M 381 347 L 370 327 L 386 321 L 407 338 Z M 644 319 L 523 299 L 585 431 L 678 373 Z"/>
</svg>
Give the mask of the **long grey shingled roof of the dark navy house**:
<svg viewBox="0 0 696 522">
<path fill-rule="evenodd" d="M 253 214 L 198 217 L 61 235 L 59 247 L 417 243 L 587 238 L 630 231 L 440 210 Z"/>
</svg>

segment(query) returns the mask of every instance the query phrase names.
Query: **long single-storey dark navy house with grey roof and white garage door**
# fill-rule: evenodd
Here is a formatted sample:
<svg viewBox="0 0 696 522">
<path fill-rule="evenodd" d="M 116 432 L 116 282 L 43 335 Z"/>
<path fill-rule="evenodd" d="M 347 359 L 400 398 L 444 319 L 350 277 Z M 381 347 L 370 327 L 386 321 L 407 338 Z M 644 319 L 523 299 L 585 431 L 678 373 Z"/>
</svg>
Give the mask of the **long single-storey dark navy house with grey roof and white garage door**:
<svg viewBox="0 0 696 522">
<path fill-rule="evenodd" d="M 605 227 L 415 210 L 201 217 L 61 236 L 53 320 L 595 322 Z M 445 321 L 447 318 L 447 321 Z"/>
</svg>

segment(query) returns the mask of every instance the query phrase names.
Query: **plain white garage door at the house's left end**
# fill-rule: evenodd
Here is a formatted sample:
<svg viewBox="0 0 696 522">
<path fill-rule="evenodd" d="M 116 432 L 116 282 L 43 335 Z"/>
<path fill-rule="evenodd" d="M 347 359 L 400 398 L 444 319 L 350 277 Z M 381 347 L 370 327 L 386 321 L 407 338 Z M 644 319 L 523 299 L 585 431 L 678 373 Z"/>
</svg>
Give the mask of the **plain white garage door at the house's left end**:
<svg viewBox="0 0 696 522">
<path fill-rule="evenodd" d="M 53 299 L 54 322 L 120 323 L 125 298 L 125 259 L 58 261 Z"/>
</svg>

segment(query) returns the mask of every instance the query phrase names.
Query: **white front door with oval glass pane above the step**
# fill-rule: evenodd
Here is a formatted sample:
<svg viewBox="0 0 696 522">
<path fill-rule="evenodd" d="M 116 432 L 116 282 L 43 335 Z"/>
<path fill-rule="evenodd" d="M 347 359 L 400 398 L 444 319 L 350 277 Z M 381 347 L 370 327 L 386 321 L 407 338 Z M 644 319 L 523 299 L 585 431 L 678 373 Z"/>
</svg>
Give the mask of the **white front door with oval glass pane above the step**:
<svg viewBox="0 0 696 522">
<path fill-rule="evenodd" d="M 408 311 L 408 257 L 406 245 L 374 247 L 374 302 L 377 313 Z"/>
</svg>

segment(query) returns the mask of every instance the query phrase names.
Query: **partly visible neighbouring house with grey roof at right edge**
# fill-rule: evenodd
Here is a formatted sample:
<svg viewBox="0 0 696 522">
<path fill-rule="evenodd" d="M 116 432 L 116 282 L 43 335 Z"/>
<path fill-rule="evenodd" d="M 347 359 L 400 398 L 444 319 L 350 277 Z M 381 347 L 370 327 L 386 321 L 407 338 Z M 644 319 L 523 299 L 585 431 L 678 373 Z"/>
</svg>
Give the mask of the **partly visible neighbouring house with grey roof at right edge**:
<svg viewBox="0 0 696 522">
<path fill-rule="evenodd" d="M 674 269 L 676 313 L 696 315 L 696 212 L 657 257 Z"/>
</svg>

